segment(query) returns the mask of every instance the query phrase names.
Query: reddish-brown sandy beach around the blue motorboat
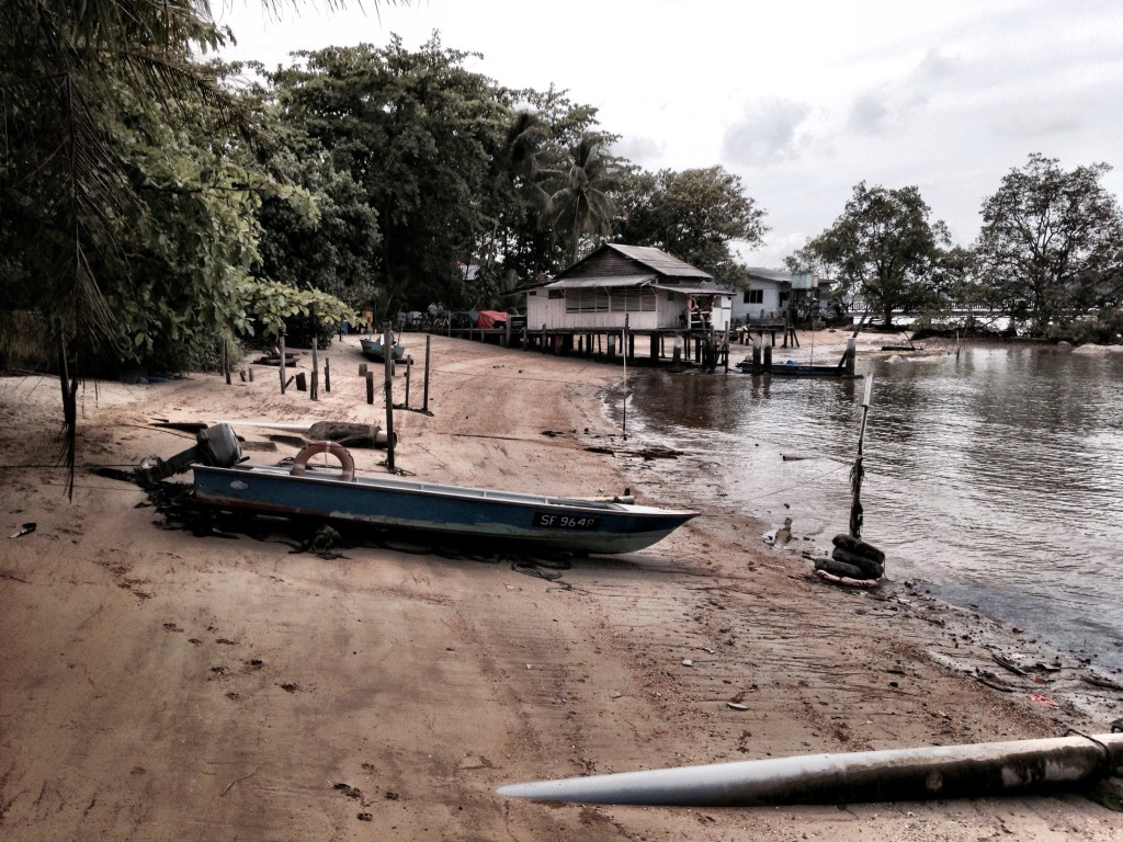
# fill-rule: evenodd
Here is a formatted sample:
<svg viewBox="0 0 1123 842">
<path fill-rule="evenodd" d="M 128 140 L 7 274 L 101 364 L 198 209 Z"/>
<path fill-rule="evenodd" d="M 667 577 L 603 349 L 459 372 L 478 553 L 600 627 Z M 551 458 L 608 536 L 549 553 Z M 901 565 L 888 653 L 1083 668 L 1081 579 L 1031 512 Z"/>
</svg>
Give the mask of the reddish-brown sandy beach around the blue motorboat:
<svg viewBox="0 0 1123 842">
<path fill-rule="evenodd" d="M 846 336 L 819 332 L 816 358 Z M 861 353 L 883 338 L 860 337 Z M 420 363 L 423 337 L 407 341 Z M 1103 733 L 1123 693 L 892 574 L 871 592 L 824 584 L 797 541 L 767 546 L 767 524 L 732 504 L 642 552 L 554 570 L 487 547 L 325 558 L 273 538 L 197 537 L 162 528 L 136 485 L 89 470 L 193 442 L 154 422 L 383 423 L 357 338 L 323 359 L 331 391 L 321 383 L 316 402 L 281 394 L 261 365 L 230 385 L 85 384 L 73 502 L 54 467 L 57 381 L 0 378 L 7 842 L 1123 839 L 1123 815 L 1077 793 L 736 809 L 500 797 L 504 784 L 575 775 Z M 299 360 L 308 373 L 310 355 Z M 575 496 L 631 487 L 674 506 L 646 494 L 643 442 L 602 412 L 619 377 L 433 337 L 431 414 L 395 412 L 395 465 Z M 401 375 L 395 390 L 401 402 Z M 237 429 L 254 461 L 298 450 Z M 353 452 L 358 470 L 384 470 L 384 451 Z"/>
</svg>

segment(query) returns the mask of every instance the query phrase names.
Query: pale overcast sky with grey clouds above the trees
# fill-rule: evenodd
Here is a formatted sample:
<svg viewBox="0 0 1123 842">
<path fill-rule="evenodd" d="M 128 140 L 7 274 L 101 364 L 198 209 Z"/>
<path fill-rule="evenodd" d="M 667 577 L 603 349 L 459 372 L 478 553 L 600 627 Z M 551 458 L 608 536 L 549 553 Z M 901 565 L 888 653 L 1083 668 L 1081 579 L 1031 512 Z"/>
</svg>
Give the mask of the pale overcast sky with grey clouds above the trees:
<svg viewBox="0 0 1123 842">
<path fill-rule="evenodd" d="M 1030 153 L 1121 167 L 1104 183 L 1123 194 L 1114 0 L 366 0 L 272 20 L 222 2 L 230 58 L 274 66 L 391 34 L 416 49 L 439 30 L 445 48 L 483 54 L 469 70 L 595 106 L 615 152 L 648 170 L 721 164 L 767 211 L 765 247 L 741 249 L 750 266 L 779 266 L 861 181 L 919 186 L 965 246 Z"/>
</svg>

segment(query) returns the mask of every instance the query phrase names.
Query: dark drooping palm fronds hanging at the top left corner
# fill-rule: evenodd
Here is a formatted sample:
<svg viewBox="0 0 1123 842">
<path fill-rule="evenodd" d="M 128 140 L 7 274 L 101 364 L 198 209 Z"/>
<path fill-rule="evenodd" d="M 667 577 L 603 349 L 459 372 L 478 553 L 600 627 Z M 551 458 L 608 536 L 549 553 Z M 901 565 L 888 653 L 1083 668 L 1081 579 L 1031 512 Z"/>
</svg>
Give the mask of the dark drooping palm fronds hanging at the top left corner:
<svg viewBox="0 0 1123 842">
<path fill-rule="evenodd" d="M 10 311 L 37 312 L 57 349 L 69 489 L 80 348 L 116 341 L 93 267 L 116 264 L 127 276 L 120 234 L 144 187 L 113 150 L 130 130 L 122 103 L 154 119 L 201 106 L 262 141 L 235 95 L 193 58 L 225 37 L 211 0 L 0 2 L 0 330 Z"/>
</svg>

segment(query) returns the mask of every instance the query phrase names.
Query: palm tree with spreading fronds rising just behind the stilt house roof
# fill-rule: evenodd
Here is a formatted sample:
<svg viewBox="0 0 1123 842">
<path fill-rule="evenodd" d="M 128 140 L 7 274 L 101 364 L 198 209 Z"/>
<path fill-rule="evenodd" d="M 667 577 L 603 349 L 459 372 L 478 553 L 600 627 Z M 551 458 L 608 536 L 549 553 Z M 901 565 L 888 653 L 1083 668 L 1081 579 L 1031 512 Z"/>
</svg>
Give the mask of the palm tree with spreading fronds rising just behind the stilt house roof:
<svg viewBox="0 0 1123 842">
<path fill-rule="evenodd" d="M 619 174 L 615 158 L 601 150 L 601 141 L 594 136 L 584 136 L 569 155 L 569 161 L 557 173 L 542 225 L 558 239 L 568 237 L 576 263 L 582 237 L 612 232 L 615 203 L 611 192 L 619 185 Z"/>
</svg>

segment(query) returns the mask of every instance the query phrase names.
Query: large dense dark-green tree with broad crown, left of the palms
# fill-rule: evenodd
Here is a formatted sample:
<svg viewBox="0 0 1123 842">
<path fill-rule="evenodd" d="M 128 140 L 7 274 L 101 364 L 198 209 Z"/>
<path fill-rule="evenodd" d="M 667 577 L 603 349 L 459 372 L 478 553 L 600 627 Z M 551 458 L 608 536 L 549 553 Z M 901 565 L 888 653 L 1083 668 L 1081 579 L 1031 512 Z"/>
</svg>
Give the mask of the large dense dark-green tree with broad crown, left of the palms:
<svg viewBox="0 0 1123 842">
<path fill-rule="evenodd" d="M 435 35 L 300 53 L 271 75 L 286 119 L 359 185 L 382 234 L 376 280 L 389 308 L 441 294 L 489 229 L 490 149 L 506 112 L 494 83 Z"/>
</svg>

